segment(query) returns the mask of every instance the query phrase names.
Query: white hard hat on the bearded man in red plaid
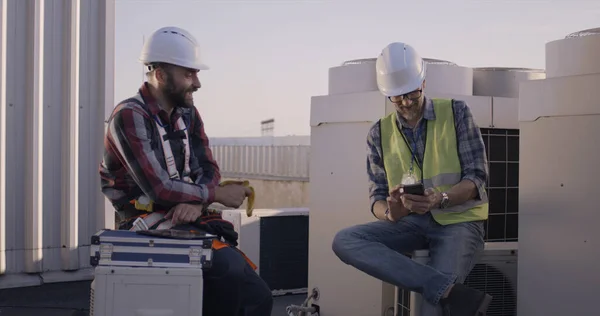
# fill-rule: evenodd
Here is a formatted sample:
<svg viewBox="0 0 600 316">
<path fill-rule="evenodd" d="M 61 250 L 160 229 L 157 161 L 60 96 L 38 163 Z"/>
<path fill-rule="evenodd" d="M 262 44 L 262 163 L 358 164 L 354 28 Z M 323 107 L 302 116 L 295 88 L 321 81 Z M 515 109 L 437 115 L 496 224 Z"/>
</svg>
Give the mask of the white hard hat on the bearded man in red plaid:
<svg viewBox="0 0 600 316">
<path fill-rule="evenodd" d="M 196 70 L 207 70 L 200 60 L 200 47 L 196 39 L 184 29 L 168 26 L 156 30 L 144 42 L 140 61 L 168 63 Z"/>
</svg>

